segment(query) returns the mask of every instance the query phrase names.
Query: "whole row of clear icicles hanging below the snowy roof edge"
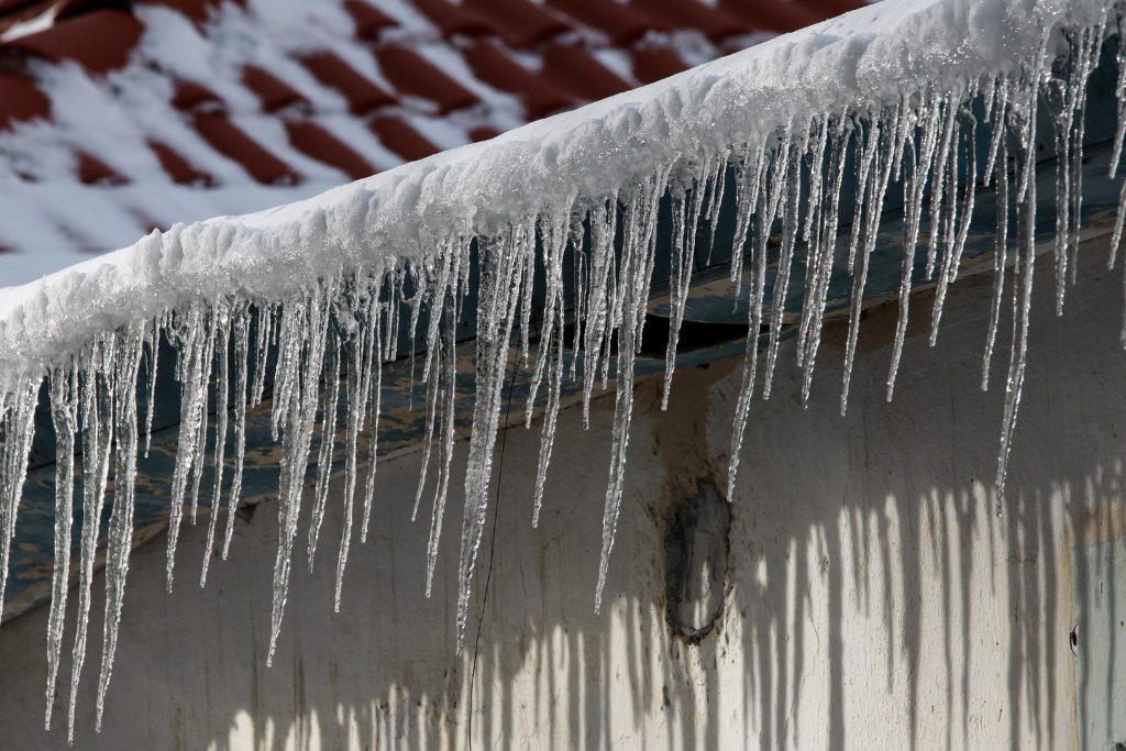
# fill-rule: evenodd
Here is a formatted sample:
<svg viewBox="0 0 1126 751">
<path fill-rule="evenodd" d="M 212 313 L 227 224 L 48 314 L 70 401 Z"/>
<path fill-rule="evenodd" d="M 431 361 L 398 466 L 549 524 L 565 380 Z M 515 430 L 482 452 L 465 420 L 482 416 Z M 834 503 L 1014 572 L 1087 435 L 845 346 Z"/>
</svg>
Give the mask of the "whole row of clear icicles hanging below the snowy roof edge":
<svg viewBox="0 0 1126 751">
<path fill-rule="evenodd" d="M 422 476 L 414 515 L 428 494 L 430 540 L 427 546 L 426 591 L 429 594 L 438 554 L 446 499 L 452 481 L 457 399 L 473 399 L 468 465 L 464 477 L 465 509 L 458 561 L 458 647 L 465 634 L 474 564 L 485 526 L 492 457 L 498 435 L 510 347 L 518 340 L 517 367 L 528 374 L 527 423 L 536 409 L 544 412 L 531 522 L 539 518 L 545 474 L 552 456 L 561 392 L 565 382 L 581 379 L 584 422 L 595 384 L 617 384 L 610 447 L 609 481 L 602 522 L 602 554 L 595 594 L 602 598 L 607 565 L 625 482 L 635 357 L 641 347 L 658 242 L 662 199 L 671 198 L 671 325 L 668 342 L 664 400 L 673 377 L 677 332 L 685 314 L 697 238 L 708 236 L 724 203 L 726 176 L 734 175 L 733 203 L 738 212 L 731 278 L 750 279 L 739 294 L 749 302 L 749 334 L 742 388 L 732 428 L 729 486 L 734 486 L 743 428 L 751 409 L 759 370 L 759 332 L 769 325 L 762 357 L 761 394 L 770 395 L 783 333 L 783 307 L 794 274 L 795 250 L 804 248 L 805 298 L 796 338 L 797 363 L 804 369 L 803 399 L 810 394 L 821 339 L 829 281 L 834 258 L 847 252 L 852 278 L 841 412 L 848 403 L 849 376 L 856 352 L 860 309 L 885 194 L 890 185 L 904 190 L 903 275 L 899 297 L 887 397 L 908 324 L 908 294 L 915 279 L 915 253 L 926 253 L 927 279 L 937 285 L 931 316 L 931 341 L 937 334 L 947 289 L 959 270 L 976 182 L 995 184 L 998 214 L 992 311 L 984 348 L 982 386 L 988 386 L 990 359 L 1002 309 L 1009 299 L 1012 350 L 1004 390 L 1004 413 L 998 458 L 1000 498 L 1025 376 L 1029 305 L 1033 290 L 1036 205 L 1035 143 L 1037 107 L 1048 108 L 1058 153 L 1056 193 L 1056 281 L 1062 306 L 1069 267 L 1074 270 L 1083 115 L 1087 80 L 1106 39 L 1123 33 L 1123 15 L 1108 8 L 1101 23 L 1079 28 L 1045 25 L 1038 44 L 1019 70 L 983 73 L 953 88 L 930 88 L 904 95 L 892 105 L 854 102 L 839 111 L 794 122 L 754 143 L 731 144 L 721 153 L 686 154 L 647 178 L 623 185 L 608 196 L 578 193 L 549 213 L 526 217 L 489 238 L 450 236 L 425 260 L 379 261 L 375 267 L 339 269 L 318 285 L 283 299 L 220 296 L 107 331 L 96 341 L 56 364 L 41 378 L 0 395 L 3 524 L 0 587 L 8 555 L 32 442 L 38 393 L 46 379 L 51 415 L 57 435 L 55 560 L 48 622 L 46 719 L 50 726 L 60 664 L 70 572 L 72 493 L 75 449 L 81 448 L 80 474 L 83 519 L 77 591 L 77 633 L 72 651 L 70 728 L 82 673 L 98 526 L 107 502 L 107 477 L 114 477 L 113 509 L 106 545 L 106 601 L 102 661 L 98 686 L 98 723 L 109 683 L 117 624 L 133 540 L 133 500 L 140 436 L 148 436 L 153 413 L 158 342 L 177 350 L 176 377 L 181 385 L 180 428 L 171 479 L 168 537 L 168 584 L 171 588 L 176 543 L 185 509 L 195 522 L 205 466 L 214 468 L 207 515 L 207 544 L 200 584 L 216 545 L 225 557 L 240 500 L 249 406 L 262 401 L 267 363 L 274 359 L 271 427 L 282 441 L 282 474 L 277 510 L 279 544 L 274 576 L 274 608 L 269 652 L 272 655 L 286 604 L 293 548 L 298 533 L 305 470 L 318 467 L 309 515 L 307 560 L 312 566 L 321 521 L 330 499 L 330 468 L 338 414 L 342 415 L 343 486 L 331 498 L 343 504 L 343 531 L 338 543 L 336 605 L 339 608 L 349 544 L 366 538 L 375 500 L 375 472 L 381 366 L 399 357 L 397 332 L 405 328 L 421 338 L 421 388 L 426 392 L 426 436 Z M 1119 48 L 1124 48 L 1121 45 Z M 1119 70 L 1126 70 L 1119 53 Z M 1126 122 L 1126 78 L 1118 88 L 1119 122 Z M 976 102 L 980 109 L 972 106 Z M 984 117 L 978 114 L 983 113 Z M 977 129 L 989 133 L 988 158 L 978 163 Z M 1117 168 L 1123 131 L 1114 147 Z M 849 225 L 841 222 L 846 166 L 856 170 L 856 205 Z M 1123 194 L 1126 202 L 1126 189 Z M 1126 212 L 1114 230 L 1117 248 Z M 1013 221 L 1015 220 L 1015 221 Z M 929 227 L 923 233 L 921 227 Z M 1016 227 L 1010 238 L 1010 223 Z M 780 242 L 770 242 L 780 229 Z M 714 229 L 711 230 L 714 238 Z M 1010 242 L 1011 241 L 1011 242 Z M 743 253 L 743 243 L 749 252 Z M 1114 259 L 1111 258 L 1111 263 Z M 476 265 L 476 392 L 458 394 L 455 332 L 470 293 L 471 266 Z M 776 269 L 770 298 L 767 279 Z M 801 271 L 798 271 L 801 272 Z M 564 279 L 577 292 L 573 305 L 564 297 Z M 546 296 L 534 310 L 533 288 L 542 280 Z M 417 290 L 411 293 L 410 290 Z M 426 313 L 423 315 L 423 313 Z M 402 316 L 402 320 L 400 320 Z M 533 338 L 533 321 L 538 337 Z M 568 327 L 570 321 L 583 325 Z M 535 342 L 535 346 L 534 346 Z M 267 357 L 276 352 L 276 358 Z M 413 349 L 412 349 L 413 351 Z M 421 350 L 420 350 L 421 351 Z M 162 364 L 161 367 L 167 367 Z M 138 383 L 138 374 L 146 383 Z M 542 393 L 544 392 L 544 393 Z M 138 401 L 146 401 L 138 405 Z M 209 413 L 215 419 L 208 421 Z M 141 419 L 146 422 L 141 424 Z M 311 456 L 320 429 L 319 455 Z M 208 455 L 208 431 L 214 453 Z M 366 456 L 360 436 L 369 433 Z M 148 444 L 145 445 L 148 450 Z M 233 468 L 225 484 L 225 470 Z M 436 481 L 434 475 L 437 475 Z M 430 477 L 431 481 L 428 481 Z M 357 486 L 360 485 L 359 489 Z M 224 507 L 225 515 L 221 513 Z M 356 506 L 363 516 L 356 529 Z M 220 519 L 225 526 L 220 530 Z M 221 534 L 222 540 L 216 540 Z"/>
</svg>

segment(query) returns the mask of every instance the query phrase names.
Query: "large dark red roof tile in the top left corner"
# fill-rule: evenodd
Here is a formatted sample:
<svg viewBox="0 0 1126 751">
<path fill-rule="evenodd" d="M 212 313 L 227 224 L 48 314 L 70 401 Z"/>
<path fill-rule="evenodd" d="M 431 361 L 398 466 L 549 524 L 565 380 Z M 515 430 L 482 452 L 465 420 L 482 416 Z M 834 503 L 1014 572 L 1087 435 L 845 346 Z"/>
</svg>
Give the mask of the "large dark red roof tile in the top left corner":
<svg viewBox="0 0 1126 751">
<path fill-rule="evenodd" d="M 73 61 L 97 75 L 124 68 L 143 30 L 125 11 L 95 10 L 17 37 L 0 48 L 55 63 Z"/>
</svg>

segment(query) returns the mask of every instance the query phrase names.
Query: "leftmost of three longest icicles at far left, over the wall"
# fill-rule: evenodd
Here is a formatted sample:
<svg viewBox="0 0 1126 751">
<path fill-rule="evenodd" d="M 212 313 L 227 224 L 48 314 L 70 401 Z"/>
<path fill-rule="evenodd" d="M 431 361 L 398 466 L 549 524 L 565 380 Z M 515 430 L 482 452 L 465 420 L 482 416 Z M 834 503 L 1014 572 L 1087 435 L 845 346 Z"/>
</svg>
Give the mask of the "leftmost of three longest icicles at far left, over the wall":
<svg viewBox="0 0 1126 751">
<path fill-rule="evenodd" d="M 51 372 L 51 418 L 55 428 L 55 561 L 51 572 L 51 614 L 47 617 L 47 709 L 44 727 L 51 730 L 55 679 L 63 645 L 66 593 L 70 590 L 71 526 L 74 510 L 74 433 L 78 431 L 77 368 Z"/>
</svg>

